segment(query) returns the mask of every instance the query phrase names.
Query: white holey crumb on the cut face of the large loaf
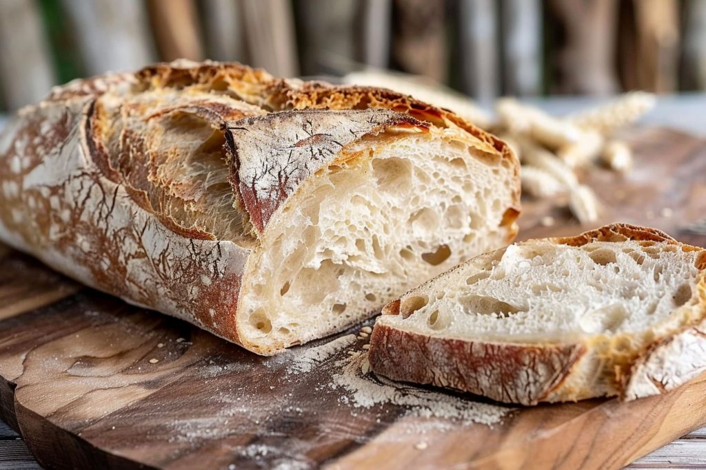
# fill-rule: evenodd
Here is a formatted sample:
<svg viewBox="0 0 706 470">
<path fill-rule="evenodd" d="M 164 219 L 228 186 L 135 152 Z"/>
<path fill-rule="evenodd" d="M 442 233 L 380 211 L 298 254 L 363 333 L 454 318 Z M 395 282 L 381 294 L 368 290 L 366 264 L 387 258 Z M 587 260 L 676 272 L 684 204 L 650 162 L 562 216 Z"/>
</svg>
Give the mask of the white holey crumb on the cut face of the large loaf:
<svg viewBox="0 0 706 470">
<path fill-rule="evenodd" d="M 320 338 L 504 245 L 515 168 L 479 148 L 450 127 L 388 130 L 346 149 L 270 221 L 245 270 L 241 338 L 258 349 Z"/>
</svg>

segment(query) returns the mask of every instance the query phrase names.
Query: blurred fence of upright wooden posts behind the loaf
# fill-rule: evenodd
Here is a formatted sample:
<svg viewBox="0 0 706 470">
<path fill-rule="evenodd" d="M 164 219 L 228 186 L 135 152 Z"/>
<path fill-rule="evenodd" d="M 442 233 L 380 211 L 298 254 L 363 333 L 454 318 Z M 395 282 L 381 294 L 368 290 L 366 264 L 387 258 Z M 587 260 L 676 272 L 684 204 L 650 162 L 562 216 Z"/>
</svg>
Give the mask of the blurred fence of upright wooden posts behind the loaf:
<svg viewBox="0 0 706 470">
<path fill-rule="evenodd" d="M 706 0 L 0 0 L 0 109 L 179 57 L 394 68 L 477 99 L 705 89 Z"/>
</svg>

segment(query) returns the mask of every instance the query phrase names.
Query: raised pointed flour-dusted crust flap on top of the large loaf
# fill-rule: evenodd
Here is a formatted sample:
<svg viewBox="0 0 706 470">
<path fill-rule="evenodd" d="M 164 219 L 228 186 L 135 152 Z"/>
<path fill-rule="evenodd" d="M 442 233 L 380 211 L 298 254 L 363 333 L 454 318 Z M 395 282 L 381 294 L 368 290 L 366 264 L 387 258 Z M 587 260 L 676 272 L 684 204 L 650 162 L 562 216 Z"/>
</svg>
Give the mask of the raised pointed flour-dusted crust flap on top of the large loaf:
<svg viewBox="0 0 706 470">
<path fill-rule="evenodd" d="M 332 163 L 347 145 L 389 128 L 425 131 L 429 125 L 388 110 L 323 109 L 283 111 L 225 125 L 231 184 L 258 235 L 306 178 Z M 297 136 L 302 132 L 306 137 Z"/>
</svg>

